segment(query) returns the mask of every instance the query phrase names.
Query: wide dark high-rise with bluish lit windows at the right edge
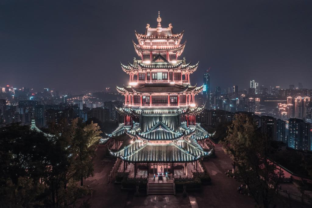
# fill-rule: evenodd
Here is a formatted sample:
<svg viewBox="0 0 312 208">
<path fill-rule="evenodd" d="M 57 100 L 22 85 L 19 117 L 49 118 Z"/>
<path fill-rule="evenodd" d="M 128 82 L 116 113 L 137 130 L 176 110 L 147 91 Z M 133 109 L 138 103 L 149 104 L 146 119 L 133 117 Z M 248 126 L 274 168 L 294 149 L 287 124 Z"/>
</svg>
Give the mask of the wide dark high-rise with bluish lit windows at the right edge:
<svg viewBox="0 0 312 208">
<path fill-rule="evenodd" d="M 297 150 L 311 150 L 311 123 L 302 119 L 289 119 L 288 147 Z"/>
</svg>

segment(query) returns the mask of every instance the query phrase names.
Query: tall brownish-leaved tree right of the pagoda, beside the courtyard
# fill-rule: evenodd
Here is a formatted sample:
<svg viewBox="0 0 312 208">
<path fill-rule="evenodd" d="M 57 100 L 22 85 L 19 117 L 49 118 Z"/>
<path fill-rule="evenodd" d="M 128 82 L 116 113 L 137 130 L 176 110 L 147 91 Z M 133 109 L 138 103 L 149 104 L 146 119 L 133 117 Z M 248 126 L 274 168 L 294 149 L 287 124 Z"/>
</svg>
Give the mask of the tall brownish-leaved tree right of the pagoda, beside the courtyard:
<svg viewBox="0 0 312 208">
<path fill-rule="evenodd" d="M 276 197 L 276 189 L 283 173 L 270 156 L 275 154 L 268 137 L 256 131 L 256 123 L 245 114 L 237 114 L 228 127 L 228 135 L 222 143 L 230 155 L 238 174 L 257 204 L 268 207 Z"/>
</svg>

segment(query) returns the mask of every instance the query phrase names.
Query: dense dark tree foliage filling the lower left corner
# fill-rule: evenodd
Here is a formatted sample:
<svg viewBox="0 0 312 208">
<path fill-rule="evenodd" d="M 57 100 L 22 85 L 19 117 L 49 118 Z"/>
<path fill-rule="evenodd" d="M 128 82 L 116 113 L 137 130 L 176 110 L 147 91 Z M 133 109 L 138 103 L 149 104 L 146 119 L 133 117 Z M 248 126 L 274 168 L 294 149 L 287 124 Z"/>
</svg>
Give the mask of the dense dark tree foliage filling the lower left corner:
<svg viewBox="0 0 312 208">
<path fill-rule="evenodd" d="M 90 192 L 97 124 L 52 123 L 50 135 L 12 124 L 0 128 L 0 203 L 5 207 L 68 207 Z"/>
</svg>

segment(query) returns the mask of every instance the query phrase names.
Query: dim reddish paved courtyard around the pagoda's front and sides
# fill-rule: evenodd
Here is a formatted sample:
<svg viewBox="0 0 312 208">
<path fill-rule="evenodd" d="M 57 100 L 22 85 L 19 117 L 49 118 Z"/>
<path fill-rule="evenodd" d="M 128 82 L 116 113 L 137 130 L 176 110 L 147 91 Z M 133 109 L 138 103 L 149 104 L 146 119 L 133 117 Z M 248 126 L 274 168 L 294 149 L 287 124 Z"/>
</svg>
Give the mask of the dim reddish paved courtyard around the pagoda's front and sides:
<svg viewBox="0 0 312 208">
<path fill-rule="evenodd" d="M 108 175 L 115 162 L 114 158 L 105 157 L 104 148 L 98 148 L 95 160 L 95 176 L 84 181 L 85 185 L 93 188 L 92 196 L 87 196 L 84 200 L 91 203 L 91 207 L 255 207 L 251 197 L 238 194 L 236 188 L 240 185 L 233 178 L 228 178 L 224 174 L 227 169 L 232 168 L 231 159 L 224 154 L 220 147 L 216 147 L 216 158 L 205 161 L 212 184 L 203 186 L 202 192 L 189 193 L 183 197 L 182 193 L 173 195 L 157 196 L 134 196 L 133 192 L 122 191 L 119 185 L 108 183 Z M 293 201 L 283 201 L 277 207 L 307 207 Z"/>
</svg>

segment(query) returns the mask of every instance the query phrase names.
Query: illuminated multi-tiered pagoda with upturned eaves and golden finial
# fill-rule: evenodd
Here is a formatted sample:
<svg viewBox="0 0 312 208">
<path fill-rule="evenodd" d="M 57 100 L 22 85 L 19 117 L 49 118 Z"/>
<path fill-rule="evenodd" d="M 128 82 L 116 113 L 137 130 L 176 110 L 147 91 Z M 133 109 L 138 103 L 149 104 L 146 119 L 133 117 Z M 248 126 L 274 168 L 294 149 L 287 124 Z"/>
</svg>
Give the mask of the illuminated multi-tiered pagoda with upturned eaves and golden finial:
<svg viewBox="0 0 312 208">
<path fill-rule="evenodd" d="M 138 42 L 133 46 L 139 58 L 120 63 L 129 75 L 129 85 L 116 86 L 125 98 L 123 107 L 116 108 L 124 123 L 106 134 L 120 143 L 110 153 L 124 162 L 124 170 L 133 165 L 134 177 L 138 167 L 148 176 L 160 172 L 160 167 L 174 174 L 177 166 L 187 174 L 188 164 L 197 169 L 198 160 L 213 151 L 204 143 L 212 135 L 196 123 L 204 106 L 197 106 L 194 97 L 203 86 L 191 85 L 190 75 L 198 63 L 179 59 L 186 44 L 181 43 L 184 31 L 173 33 L 171 23 L 163 28 L 159 12 L 157 23 L 156 28 L 147 24 L 145 34 L 135 31 Z"/>
</svg>

